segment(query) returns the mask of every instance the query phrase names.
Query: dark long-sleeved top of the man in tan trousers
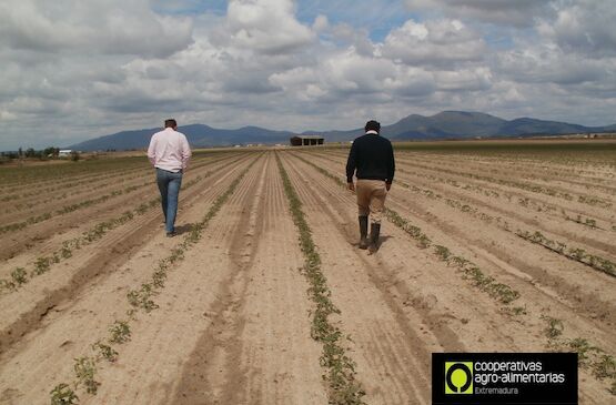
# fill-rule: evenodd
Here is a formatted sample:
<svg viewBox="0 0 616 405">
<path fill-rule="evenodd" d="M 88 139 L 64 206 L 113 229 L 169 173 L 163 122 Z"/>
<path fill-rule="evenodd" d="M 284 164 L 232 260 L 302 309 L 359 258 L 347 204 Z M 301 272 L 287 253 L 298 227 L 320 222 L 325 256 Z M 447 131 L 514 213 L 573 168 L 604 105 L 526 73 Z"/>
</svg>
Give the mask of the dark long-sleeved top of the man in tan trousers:
<svg viewBox="0 0 616 405">
<path fill-rule="evenodd" d="M 357 179 L 383 180 L 391 184 L 395 172 L 392 142 L 372 133 L 357 138 L 349 152 L 346 182 L 353 181 L 355 170 Z"/>
</svg>

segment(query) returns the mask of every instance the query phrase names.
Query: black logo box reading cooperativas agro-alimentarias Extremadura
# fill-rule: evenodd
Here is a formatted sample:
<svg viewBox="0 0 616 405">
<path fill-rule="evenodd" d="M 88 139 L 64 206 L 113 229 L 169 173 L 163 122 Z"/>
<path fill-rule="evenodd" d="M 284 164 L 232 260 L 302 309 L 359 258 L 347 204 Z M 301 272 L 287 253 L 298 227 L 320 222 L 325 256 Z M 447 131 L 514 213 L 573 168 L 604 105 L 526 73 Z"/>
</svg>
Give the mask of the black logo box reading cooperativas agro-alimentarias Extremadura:
<svg viewBox="0 0 616 405">
<path fill-rule="evenodd" d="M 564 374 L 564 384 L 474 384 L 476 387 L 517 388 L 518 395 L 445 394 L 446 362 L 541 362 L 542 374 Z M 486 373 L 486 372 L 475 372 Z M 491 373 L 491 372 L 487 372 Z M 527 372 L 533 373 L 533 372 Z M 501 373 L 498 373 L 501 374 Z M 577 353 L 433 353 L 433 405 L 577 405 Z"/>
</svg>

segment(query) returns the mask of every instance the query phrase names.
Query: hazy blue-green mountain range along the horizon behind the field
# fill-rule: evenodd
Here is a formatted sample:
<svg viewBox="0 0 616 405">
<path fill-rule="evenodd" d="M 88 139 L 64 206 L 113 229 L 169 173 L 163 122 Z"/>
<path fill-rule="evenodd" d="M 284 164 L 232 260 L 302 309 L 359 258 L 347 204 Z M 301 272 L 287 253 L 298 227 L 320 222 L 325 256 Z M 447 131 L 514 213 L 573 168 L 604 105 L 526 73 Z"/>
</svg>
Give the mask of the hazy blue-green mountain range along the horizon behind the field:
<svg viewBox="0 0 616 405">
<path fill-rule="evenodd" d="M 223 146 L 234 144 L 289 143 L 292 131 L 272 131 L 259 126 L 236 130 L 215 129 L 204 124 L 184 125 L 178 129 L 184 133 L 193 148 Z M 148 148 L 150 138 L 160 128 L 122 131 L 77 143 L 70 149 L 80 151 L 131 150 Z M 351 141 L 363 134 L 363 129 L 349 131 L 304 131 L 302 134 L 323 135 L 325 142 Z M 616 124 L 608 126 L 584 126 L 557 121 L 519 118 L 507 121 L 481 112 L 443 111 L 432 117 L 412 114 L 392 125 L 383 125 L 381 134 L 392 141 L 443 140 L 469 138 L 531 136 L 539 134 L 570 134 L 616 132 Z"/>
</svg>

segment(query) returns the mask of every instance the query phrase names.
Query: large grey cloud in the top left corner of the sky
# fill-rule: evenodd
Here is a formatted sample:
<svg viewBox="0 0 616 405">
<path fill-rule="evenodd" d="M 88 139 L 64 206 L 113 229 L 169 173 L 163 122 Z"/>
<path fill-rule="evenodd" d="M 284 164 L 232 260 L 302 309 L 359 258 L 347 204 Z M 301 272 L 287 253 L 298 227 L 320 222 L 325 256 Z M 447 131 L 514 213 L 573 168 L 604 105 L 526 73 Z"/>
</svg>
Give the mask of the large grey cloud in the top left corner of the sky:
<svg viewBox="0 0 616 405">
<path fill-rule="evenodd" d="M 163 58 L 191 42 L 190 19 L 158 16 L 144 0 L 0 4 L 0 47 L 11 49 Z"/>
</svg>

